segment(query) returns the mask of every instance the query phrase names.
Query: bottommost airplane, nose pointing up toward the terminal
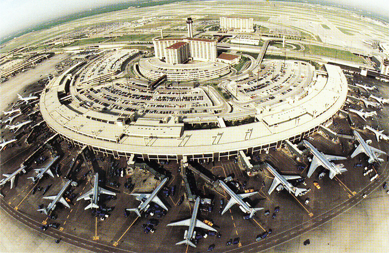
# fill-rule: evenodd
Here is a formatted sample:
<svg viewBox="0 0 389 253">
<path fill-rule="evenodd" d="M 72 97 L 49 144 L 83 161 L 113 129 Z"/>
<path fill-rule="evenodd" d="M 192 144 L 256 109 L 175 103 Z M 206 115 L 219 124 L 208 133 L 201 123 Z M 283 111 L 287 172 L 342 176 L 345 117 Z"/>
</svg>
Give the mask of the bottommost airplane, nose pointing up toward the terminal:
<svg viewBox="0 0 389 253">
<path fill-rule="evenodd" d="M 217 232 L 217 230 L 212 228 L 210 225 L 207 225 L 204 222 L 197 219 L 197 211 L 198 211 L 199 205 L 200 205 L 200 197 L 197 197 L 196 202 L 195 202 L 195 206 L 193 207 L 193 213 L 192 213 L 191 219 L 185 219 L 185 220 L 181 220 L 181 221 L 167 224 L 168 226 L 189 226 L 188 230 L 185 230 L 184 240 L 177 242 L 176 245 L 180 245 L 180 244 L 185 243 L 186 245 L 190 245 L 190 246 L 196 248 L 196 245 L 191 241 L 196 236 L 195 227 L 199 227 L 199 228 L 203 228 L 203 229 Z"/>
</svg>

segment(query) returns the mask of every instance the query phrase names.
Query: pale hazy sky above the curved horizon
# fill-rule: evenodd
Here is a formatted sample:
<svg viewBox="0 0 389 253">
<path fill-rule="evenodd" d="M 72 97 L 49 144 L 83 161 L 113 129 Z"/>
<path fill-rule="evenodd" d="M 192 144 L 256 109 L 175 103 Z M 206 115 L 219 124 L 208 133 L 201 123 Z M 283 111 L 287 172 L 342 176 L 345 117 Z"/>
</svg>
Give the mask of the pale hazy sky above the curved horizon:
<svg viewBox="0 0 389 253">
<path fill-rule="evenodd" d="M 8 36 L 56 17 L 126 0 L 0 0 L 0 35 Z M 127 0 L 128 2 L 129 0 Z M 306 0 L 312 2 L 312 0 Z M 389 0 L 328 0 L 389 16 Z"/>
</svg>

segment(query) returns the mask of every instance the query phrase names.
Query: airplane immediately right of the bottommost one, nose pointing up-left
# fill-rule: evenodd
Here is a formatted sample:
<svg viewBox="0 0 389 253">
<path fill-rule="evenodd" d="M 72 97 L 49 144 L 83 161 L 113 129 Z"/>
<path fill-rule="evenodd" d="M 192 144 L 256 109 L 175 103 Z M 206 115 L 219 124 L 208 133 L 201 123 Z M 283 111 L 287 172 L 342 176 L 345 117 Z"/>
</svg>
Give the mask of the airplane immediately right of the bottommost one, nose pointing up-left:
<svg viewBox="0 0 389 253">
<path fill-rule="evenodd" d="M 244 202 L 243 199 L 245 198 L 248 198 L 250 197 L 251 195 L 254 195 L 254 194 L 257 194 L 258 192 L 257 191 L 254 191 L 254 192 L 248 192 L 248 193 L 242 193 L 242 194 L 236 194 L 235 192 L 233 192 L 230 187 L 228 187 L 223 181 L 219 180 L 219 184 L 220 186 L 222 186 L 222 188 L 227 191 L 227 193 L 231 196 L 230 198 L 230 201 L 227 203 L 226 207 L 223 209 L 222 211 L 222 215 L 228 210 L 230 209 L 231 206 L 233 206 L 234 204 L 239 204 L 239 208 L 245 212 L 245 213 L 248 213 L 250 214 L 250 218 L 252 218 L 254 216 L 254 214 L 257 212 L 257 211 L 260 211 L 264 208 L 262 207 L 258 207 L 258 208 L 252 208 L 248 202 Z"/>
</svg>

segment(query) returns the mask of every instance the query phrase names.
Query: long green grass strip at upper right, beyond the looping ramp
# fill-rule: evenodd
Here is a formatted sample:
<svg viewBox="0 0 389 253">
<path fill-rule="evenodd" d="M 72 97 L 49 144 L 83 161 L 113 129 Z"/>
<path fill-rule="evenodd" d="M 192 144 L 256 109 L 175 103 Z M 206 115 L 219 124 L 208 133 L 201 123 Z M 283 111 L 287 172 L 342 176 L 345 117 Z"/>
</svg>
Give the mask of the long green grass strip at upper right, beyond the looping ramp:
<svg viewBox="0 0 389 253">
<path fill-rule="evenodd" d="M 350 51 L 338 50 L 333 48 L 320 47 L 315 45 L 305 45 L 307 54 L 321 55 L 339 60 L 363 63 L 359 56 Z"/>
</svg>

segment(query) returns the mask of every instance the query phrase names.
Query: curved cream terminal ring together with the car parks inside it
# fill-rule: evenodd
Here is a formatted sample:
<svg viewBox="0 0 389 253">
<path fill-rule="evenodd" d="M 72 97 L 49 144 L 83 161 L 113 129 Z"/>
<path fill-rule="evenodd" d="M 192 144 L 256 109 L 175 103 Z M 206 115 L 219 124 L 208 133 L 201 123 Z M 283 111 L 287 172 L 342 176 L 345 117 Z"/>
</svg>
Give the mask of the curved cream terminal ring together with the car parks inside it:
<svg viewBox="0 0 389 253">
<path fill-rule="evenodd" d="M 219 160 L 300 141 L 346 101 L 346 78 L 333 65 L 316 70 L 306 62 L 266 60 L 252 77 L 218 86 L 150 85 L 123 77 L 139 56 L 109 52 L 53 79 L 40 97 L 49 127 L 115 157 Z"/>
</svg>

